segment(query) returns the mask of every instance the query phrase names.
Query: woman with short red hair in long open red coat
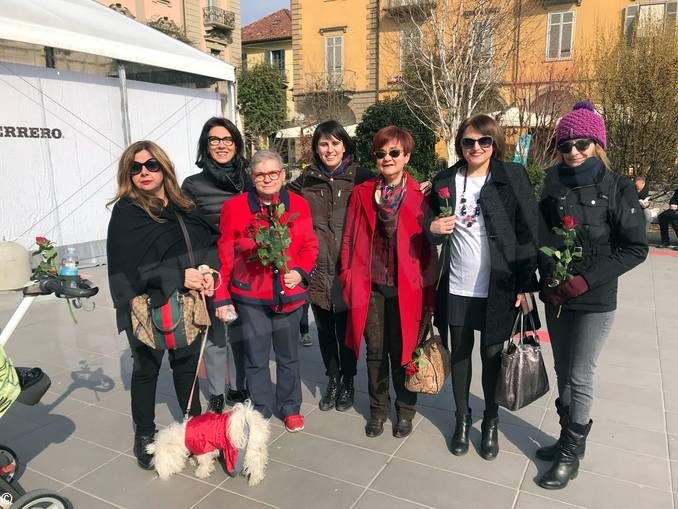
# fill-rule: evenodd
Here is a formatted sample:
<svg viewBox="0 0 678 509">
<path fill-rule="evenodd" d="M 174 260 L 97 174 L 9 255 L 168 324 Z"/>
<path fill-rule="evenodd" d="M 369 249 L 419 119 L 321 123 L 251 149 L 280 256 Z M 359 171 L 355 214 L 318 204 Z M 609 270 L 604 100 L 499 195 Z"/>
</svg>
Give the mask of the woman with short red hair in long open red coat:
<svg viewBox="0 0 678 509">
<path fill-rule="evenodd" d="M 412 135 L 396 126 L 372 141 L 378 176 L 353 188 L 341 246 L 340 280 L 348 305 L 346 345 L 367 343 L 368 437 L 384 430 L 390 412 L 389 361 L 396 393 L 393 436 L 412 431 L 417 395 L 405 389 L 424 308 L 434 300 L 435 255 L 424 235 L 427 201 L 405 171 Z"/>
</svg>

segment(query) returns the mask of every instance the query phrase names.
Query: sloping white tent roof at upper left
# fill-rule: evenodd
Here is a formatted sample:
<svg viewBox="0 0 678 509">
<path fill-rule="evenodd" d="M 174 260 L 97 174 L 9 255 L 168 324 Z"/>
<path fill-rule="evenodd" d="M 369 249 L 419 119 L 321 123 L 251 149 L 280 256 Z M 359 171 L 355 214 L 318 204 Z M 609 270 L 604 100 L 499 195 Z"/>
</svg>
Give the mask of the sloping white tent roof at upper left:
<svg viewBox="0 0 678 509">
<path fill-rule="evenodd" d="M 93 0 L 2 0 L 0 39 L 235 81 L 232 65 Z"/>
</svg>

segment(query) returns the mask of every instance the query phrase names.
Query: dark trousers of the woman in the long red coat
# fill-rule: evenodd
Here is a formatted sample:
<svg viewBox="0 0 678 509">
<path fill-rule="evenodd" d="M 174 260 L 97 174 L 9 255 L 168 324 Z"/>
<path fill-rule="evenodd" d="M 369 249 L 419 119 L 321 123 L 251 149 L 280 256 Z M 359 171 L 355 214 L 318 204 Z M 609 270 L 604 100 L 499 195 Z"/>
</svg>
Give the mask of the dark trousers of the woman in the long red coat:
<svg viewBox="0 0 678 509">
<path fill-rule="evenodd" d="M 413 419 L 417 394 L 405 389 L 405 368 L 400 365 L 403 353 L 400 310 L 394 288 L 373 287 L 365 323 L 365 341 L 367 389 L 372 416 L 386 419 L 391 410 L 388 393 L 390 361 L 396 393 L 396 412 L 401 419 Z"/>
</svg>

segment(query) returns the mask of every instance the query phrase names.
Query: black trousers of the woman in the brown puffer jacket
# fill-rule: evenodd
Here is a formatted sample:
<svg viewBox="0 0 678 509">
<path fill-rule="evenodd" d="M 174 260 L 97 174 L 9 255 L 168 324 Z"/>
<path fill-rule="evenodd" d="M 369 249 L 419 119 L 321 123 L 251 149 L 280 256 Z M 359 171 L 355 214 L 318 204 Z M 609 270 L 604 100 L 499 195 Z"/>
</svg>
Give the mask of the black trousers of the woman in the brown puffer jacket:
<svg viewBox="0 0 678 509">
<path fill-rule="evenodd" d="M 347 311 L 323 309 L 311 304 L 315 325 L 318 328 L 320 354 L 325 364 L 325 374 L 333 377 L 352 378 L 356 374 L 356 356 L 344 342 L 346 339 Z"/>
</svg>

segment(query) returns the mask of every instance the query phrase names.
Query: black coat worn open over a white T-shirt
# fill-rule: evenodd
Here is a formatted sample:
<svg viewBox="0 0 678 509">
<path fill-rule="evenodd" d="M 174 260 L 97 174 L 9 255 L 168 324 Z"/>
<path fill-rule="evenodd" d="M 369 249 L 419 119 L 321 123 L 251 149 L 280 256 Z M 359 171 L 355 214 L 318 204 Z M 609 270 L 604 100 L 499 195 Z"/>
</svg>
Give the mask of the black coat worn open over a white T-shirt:
<svg viewBox="0 0 678 509">
<path fill-rule="evenodd" d="M 431 213 L 426 232 L 434 244 L 443 244 L 445 235 L 431 233 L 431 222 L 440 214 L 445 203 L 438 192 L 443 187 L 450 191 L 450 205 L 454 206 L 455 176 L 464 167 L 463 162 L 441 171 L 433 179 Z M 537 267 L 537 202 L 525 168 L 519 164 L 491 160 L 490 180 L 480 191 L 479 204 L 485 220 L 490 247 L 490 286 L 487 296 L 487 314 L 483 346 L 506 341 L 516 318 L 514 306 L 518 293 L 538 289 Z M 463 228 L 460 223 L 457 228 Z M 443 342 L 447 341 L 447 298 L 449 295 L 449 244 L 443 244 L 438 274 L 436 326 Z"/>
</svg>

